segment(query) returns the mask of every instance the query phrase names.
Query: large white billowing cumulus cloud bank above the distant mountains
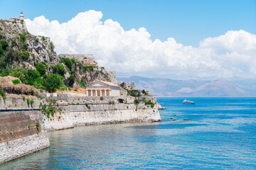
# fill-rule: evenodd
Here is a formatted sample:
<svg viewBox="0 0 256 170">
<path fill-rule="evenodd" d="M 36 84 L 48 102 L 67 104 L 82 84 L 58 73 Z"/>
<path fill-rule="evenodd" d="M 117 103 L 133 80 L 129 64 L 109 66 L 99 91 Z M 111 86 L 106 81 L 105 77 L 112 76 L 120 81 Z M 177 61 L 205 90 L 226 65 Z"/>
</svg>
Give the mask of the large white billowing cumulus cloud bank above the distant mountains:
<svg viewBox="0 0 256 170">
<path fill-rule="evenodd" d="M 117 74 L 176 79 L 256 75 L 256 35 L 245 30 L 230 30 L 192 47 L 174 38 L 151 40 L 146 28 L 124 30 L 117 21 L 102 21 L 102 16 L 90 10 L 67 23 L 50 22 L 44 16 L 25 21 L 30 33 L 50 37 L 58 54 L 94 54 L 100 66 Z"/>
</svg>

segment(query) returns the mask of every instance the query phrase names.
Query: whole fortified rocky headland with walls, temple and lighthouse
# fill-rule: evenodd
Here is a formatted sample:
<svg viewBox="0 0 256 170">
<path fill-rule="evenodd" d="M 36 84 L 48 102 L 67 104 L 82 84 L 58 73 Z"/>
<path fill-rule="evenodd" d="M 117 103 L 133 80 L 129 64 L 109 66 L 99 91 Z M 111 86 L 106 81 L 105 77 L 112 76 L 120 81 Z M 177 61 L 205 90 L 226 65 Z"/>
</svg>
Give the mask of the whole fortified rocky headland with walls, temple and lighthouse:
<svg viewBox="0 0 256 170">
<path fill-rule="evenodd" d="M 50 147 L 50 130 L 161 121 L 149 91 L 117 82 L 93 55 L 57 55 L 23 18 L 0 19 L 0 164 Z"/>
</svg>

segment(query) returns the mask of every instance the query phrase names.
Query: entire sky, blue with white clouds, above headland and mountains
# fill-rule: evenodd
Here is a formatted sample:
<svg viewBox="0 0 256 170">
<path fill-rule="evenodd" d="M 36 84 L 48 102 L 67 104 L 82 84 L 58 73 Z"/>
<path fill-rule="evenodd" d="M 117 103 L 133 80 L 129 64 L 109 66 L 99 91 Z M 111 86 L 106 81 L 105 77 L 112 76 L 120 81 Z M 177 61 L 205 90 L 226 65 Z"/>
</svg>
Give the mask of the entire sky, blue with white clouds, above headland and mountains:
<svg viewBox="0 0 256 170">
<path fill-rule="evenodd" d="M 256 1 L 2 1 L 58 53 L 93 53 L 117 74 L 255 79 Z"/>
</svg>

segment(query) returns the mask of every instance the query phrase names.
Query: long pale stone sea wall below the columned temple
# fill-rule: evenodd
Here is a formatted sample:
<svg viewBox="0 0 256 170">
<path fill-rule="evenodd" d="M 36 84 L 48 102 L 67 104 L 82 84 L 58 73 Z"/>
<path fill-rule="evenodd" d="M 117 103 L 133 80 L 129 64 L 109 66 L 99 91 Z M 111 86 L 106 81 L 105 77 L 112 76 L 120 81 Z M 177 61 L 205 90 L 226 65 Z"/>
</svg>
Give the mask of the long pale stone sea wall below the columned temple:
<svg viewBox="0 0 256 170">
<path fill-rule="evenodd" d="M 69 96 L 64 101 L 57 100 L 52 104 L 56 112 L 49 118 L 44 114 L 43 121 L 46 130 L 73 128 L 78 125 L 161 121 L 156 106 L 145 106 L 143 101 L 134 104 L 134 99 L 132 96 Z M 156 98 L 151 100 L 156 102 Z M 42 100 L 42 106 L 45 104 L 47 103 Z"/>
</svg>

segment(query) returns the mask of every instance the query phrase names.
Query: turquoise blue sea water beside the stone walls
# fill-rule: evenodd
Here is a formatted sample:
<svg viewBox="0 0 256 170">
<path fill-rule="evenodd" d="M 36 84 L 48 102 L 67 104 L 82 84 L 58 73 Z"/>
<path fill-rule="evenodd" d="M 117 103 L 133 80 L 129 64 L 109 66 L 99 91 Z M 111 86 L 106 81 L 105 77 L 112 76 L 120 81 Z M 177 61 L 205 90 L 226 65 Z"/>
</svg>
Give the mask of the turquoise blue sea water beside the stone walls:
<svg viewBox="0 0 256 170">
<path fill-rule="evenodd" d="M 256 169 L 256 98 L 187 99 L 158 98 L 162 123 L 49 132 L 49 149 L 0 169 Z"/>
</svg>

